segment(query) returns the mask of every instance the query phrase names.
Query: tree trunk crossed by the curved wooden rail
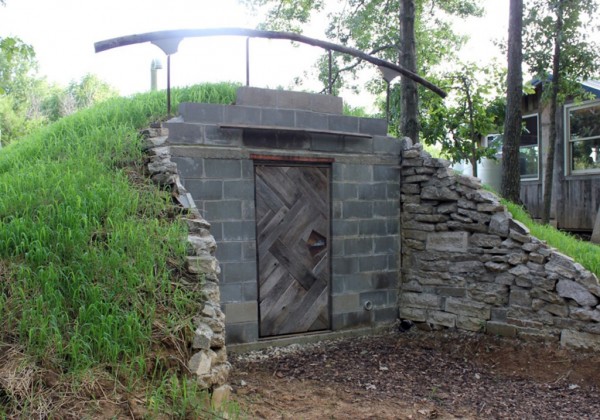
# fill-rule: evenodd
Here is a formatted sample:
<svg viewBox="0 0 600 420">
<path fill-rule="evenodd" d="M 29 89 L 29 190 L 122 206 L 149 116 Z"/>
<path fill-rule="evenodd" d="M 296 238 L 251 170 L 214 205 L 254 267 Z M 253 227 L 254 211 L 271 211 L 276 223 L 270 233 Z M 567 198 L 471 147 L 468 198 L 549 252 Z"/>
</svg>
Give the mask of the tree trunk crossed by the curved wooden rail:
<svg viewBox="0 0 600 420">
<path fill-rule="evenodd" d="M 417 72 L 415 0 L 400 0 L 400 65 Z M 419 96 L 417 84 L 408 77 L 400 81 L 400 133 L 419 142 Z"/>
</svg>

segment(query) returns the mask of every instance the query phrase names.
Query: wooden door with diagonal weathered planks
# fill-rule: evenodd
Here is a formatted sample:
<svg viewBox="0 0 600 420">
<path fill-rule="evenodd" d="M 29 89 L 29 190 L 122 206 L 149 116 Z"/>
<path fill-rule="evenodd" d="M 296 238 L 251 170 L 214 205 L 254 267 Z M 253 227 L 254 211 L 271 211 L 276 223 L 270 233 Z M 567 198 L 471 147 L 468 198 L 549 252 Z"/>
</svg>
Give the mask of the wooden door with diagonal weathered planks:
<svg viewBox="0 0 600 420">
<path fill-rule="evenodd" d="M 329 329 L 329 167 L 255 176 L 260 336 Z"/>
</svg>

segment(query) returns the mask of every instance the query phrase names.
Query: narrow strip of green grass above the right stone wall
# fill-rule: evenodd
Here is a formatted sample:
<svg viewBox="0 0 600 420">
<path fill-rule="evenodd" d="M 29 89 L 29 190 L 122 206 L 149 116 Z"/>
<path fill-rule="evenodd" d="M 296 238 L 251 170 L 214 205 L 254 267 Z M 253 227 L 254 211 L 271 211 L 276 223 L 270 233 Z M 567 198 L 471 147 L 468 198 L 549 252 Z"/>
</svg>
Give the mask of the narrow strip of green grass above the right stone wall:
<svg viewBox="0 0 600 420">
<path fill-rule="evenodd" d="M 600 247 L 591 242 L 581 241 L 565 232 L 561 232 L 549 225 L 536 223 L 523 207 L 502 201 L 513 217 L 525 224 L 531 234 L 536 238 L 546 241 L 548 245 L 556 248 L 563 254 L 573 258 L 575 261 L 600 277 Z"/>
</svg>

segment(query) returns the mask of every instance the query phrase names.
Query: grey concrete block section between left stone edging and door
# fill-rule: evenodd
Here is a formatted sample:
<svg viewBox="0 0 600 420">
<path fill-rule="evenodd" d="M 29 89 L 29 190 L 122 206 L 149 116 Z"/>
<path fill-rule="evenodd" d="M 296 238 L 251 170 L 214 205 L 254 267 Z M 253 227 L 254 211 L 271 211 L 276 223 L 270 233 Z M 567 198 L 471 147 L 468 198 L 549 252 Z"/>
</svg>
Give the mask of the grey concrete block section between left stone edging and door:
<svg viewBox="0 0 600 420">
<path fill-rule="evenodd" d="M 258 339 L 254 165 L 250 159 L 226 157 L 172 160 L 218 244 L 228 341 L 253 342 Z"/>
</svg>

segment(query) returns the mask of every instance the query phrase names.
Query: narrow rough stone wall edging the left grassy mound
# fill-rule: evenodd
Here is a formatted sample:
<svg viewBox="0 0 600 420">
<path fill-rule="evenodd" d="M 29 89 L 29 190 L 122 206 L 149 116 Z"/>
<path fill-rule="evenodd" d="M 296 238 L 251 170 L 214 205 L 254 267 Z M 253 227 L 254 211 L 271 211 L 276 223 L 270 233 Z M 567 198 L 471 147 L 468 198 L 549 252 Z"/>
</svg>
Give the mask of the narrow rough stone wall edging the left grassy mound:
<svg viewBox="0 0 600 420">
<path fill-rule="evenodd" d="M 146 137 L 149 176 L 171 192 L 188 226 L 186 280 L 194 281 L 184 284 L 184 287 L 201 288 L 204 296 L 204 301 L 198 302 L 199 312 L 194 317 L 195 332 L 190 343 L 193 355 L 188 368 L 196 375 L 198 384 L 212 392 L 213 402 L 218 403 L 227 398 L 231 390 L 227 385 L 231 365 L 227 361 L 225 347 L 225 315 L 221 310 L 218 284 L 220 268 L 215 258 L 217 244 L 210 233 L 210 224 L 202 218 L 191 195 L 179 180 L 177 164 L 171 161 L 169 147 L 164 146 L 167 130 L 154 127 L 145 130 L 143 135 Z"/>
</svg>

